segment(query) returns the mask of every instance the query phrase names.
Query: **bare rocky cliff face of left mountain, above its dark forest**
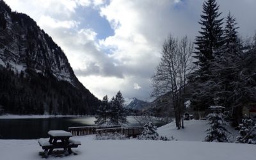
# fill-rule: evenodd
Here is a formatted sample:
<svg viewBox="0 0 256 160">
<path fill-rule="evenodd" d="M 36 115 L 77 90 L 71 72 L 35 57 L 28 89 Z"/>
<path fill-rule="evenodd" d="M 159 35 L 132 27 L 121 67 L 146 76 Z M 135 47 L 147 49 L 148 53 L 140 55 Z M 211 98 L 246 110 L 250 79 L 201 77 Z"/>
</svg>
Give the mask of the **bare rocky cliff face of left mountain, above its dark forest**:
<svg viewBox="0 0 256 160">
<path fill-rule="evenodd" d="M 18 73 L 26 68 L 51 72 L 58 80 L 79 85 L 67 57 L 51 36 L 28 15 L 12 12 L 1 3 L 0 64 Z"/>
</svg>

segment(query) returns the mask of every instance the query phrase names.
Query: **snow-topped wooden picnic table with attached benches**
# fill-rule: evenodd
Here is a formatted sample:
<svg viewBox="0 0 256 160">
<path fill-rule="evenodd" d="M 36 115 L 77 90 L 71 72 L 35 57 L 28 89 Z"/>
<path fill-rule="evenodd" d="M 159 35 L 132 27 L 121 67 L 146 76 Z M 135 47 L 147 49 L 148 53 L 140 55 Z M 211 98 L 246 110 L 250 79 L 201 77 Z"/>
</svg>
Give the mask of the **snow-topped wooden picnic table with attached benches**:
<svg viewBox="0 0 256 160">
<path fill-rule="evenodd" d="M 49 141 L 44 138 L 38 140 L 39 145 L 44 149 L 44 156 L 49 156 L 52 154 L 52 150 L 56 148 L 63 148 L 67 151 L 68 154 L 72 154 L 71 148 L 77 148 L 78 145 L 81 145 L 80 141 L 72 140 L 71 132 L 54 130 L 48 132 L 50 138 Z M 66 156 L 68 155 L 66 154 Z"/>
</svg>

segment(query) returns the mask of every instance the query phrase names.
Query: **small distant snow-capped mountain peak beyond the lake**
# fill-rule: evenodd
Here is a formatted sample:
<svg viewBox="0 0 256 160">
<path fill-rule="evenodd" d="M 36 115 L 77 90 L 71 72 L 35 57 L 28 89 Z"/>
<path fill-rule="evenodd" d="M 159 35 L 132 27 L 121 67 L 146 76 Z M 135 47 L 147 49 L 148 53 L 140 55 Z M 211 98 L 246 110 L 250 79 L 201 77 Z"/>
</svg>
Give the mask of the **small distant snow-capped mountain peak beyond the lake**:
<svg viewBox="0 0 256 160">
<path fill-rule="evenodd" d="M 125 98 L 124 99 L 124 107 L 127 109 L 133 109 L 133 110 L 143 110 L 147 107 L 148 102 L 145 102 L 143 100 L 138 100 L 136 98 Z"/>
</svg>

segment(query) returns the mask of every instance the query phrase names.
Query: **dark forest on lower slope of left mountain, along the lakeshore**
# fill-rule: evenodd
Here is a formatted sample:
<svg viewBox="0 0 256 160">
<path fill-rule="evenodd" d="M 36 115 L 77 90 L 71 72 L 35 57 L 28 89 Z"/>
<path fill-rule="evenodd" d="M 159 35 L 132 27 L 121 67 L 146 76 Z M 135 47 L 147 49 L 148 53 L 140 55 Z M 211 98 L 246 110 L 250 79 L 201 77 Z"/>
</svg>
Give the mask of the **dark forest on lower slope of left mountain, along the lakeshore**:
<svg viewBox="0 0 256 160">
<path fill-rule="evenodd" d="M 50 72 L 16 74 L 0 66 L 0 105 L 6 113 L 94 115 L 99 100 L 88 90 L 58 81 Z"/>
</svg>

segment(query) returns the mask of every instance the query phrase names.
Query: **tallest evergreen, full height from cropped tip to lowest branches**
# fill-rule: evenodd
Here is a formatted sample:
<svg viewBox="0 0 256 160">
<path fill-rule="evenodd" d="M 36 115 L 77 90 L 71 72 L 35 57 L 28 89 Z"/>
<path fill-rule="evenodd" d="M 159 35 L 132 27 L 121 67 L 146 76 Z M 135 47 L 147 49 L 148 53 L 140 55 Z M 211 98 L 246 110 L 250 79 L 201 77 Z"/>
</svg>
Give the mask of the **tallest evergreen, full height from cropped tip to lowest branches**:
<svg viewBox="0 0 256 160">
<path fill-rule="evenodd" d="M 211 70 L 209 69 L 211 61 L 216 56 L 220 55 L 221 46 L 224 44 L 223 19 L 220 19 L 221 13 L 218 12 L 219 6 L 215 0 L 204 1 L 203 14 L 200 22 L 202 31 L 199 31 L 200 36 L 196 36 L 195 44 L 196 56 L 198 60 L 195 62 L 198 65 L 198 70 L 189 78 L 190 83 L 193 83 L 194 93 L 191 98 L 191 106 L 196 110 L 204 110 L 213 104 L 214 95 L 208 85 L 212 82 Z"/>
</svg>

